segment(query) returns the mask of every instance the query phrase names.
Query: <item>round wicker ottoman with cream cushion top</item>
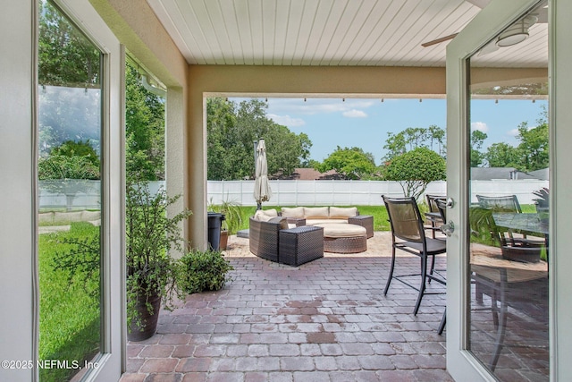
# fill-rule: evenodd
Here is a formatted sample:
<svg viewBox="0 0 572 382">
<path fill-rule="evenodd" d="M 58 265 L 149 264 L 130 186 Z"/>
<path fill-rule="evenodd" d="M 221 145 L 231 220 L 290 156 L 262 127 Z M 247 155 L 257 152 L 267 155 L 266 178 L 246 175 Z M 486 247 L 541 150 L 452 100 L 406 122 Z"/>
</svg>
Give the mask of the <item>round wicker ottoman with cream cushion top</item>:
<svg viewBox="0 0 572 382">
<path fill-rule="evenodd" d="M 321 224 L 324 228 L 324 251 L 358 253 L 367 250 L 367 230 L 361 225 Z"/>
</svg>

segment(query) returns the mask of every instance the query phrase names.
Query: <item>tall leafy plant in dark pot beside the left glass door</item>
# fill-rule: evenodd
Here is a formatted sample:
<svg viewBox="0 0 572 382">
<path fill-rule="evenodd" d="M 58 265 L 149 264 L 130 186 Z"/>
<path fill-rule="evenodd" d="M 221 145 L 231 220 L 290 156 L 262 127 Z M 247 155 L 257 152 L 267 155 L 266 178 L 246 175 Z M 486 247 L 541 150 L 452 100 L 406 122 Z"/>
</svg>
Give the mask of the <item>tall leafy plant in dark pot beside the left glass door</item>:
<svg viewBox="0 0 572 382">
<path fill-rule="evenodd" d="M 128 180 L 126 196 L 128 338 L 142 341 L 155 335 L 161 302 L 171 309 L 174 297 L 181 297 L 179 262 L 168 251 L 182 250 L 179 223 L 191 212 L 167 216 L 181 195 L 169 197 L 163 187 L 153 192 L 147 182 Z"/>
</svg>

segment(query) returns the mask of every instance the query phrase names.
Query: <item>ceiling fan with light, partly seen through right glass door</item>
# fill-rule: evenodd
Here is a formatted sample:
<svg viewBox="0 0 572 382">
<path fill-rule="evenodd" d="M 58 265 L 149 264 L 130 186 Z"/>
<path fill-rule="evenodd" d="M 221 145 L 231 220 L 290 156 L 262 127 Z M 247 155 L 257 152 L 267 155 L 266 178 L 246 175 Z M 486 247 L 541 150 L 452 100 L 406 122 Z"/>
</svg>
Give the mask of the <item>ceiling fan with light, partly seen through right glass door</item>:
<svg viewBox="0 0 572 382">
<path fill-rule="evenodd" d="M 490 0 L 466 0 L 467 2 L 479 7 L 484 8 Z M 528 15 L 523 19 L 517 21 L 514 25 L 510 26 L 509 29 L 499 35 L 498 38 L 493 39 L 489 44 L 487 44 L 481 54 L 492 53 L 499 47 L 509 47 L 515 45 L 528 37 L 528 29 L 534 25 L 536 22 L 547 22 L 548 16 L 546 12 L 546 7 L 537 10 L 539 12 Z M 426 41 L 421 44 L 422 47 L 431 47 L 436 44 L 441 44 L 442 42 L 449 41 L 455 38 L 458 33 L 453 33 L 448 36 L 443 36 L 442 38 L 435 38 L 431 41 Z"/>
</svg>

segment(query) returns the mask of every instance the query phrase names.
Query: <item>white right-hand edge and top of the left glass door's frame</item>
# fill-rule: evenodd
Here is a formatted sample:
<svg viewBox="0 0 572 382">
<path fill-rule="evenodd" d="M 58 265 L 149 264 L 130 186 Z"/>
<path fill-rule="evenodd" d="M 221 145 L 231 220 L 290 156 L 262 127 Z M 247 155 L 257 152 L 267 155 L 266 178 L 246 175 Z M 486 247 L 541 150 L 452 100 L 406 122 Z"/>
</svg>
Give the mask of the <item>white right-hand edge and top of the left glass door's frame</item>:
<svg viewBox="0 0 572 382">
<path fill-rule="evenodd" d="M 125 321 L 125 52 L 88 0 L 53 0 L 103 53 L 102 348 L 84 381 L 118 380 L 126 346 Z"/>
</svg>

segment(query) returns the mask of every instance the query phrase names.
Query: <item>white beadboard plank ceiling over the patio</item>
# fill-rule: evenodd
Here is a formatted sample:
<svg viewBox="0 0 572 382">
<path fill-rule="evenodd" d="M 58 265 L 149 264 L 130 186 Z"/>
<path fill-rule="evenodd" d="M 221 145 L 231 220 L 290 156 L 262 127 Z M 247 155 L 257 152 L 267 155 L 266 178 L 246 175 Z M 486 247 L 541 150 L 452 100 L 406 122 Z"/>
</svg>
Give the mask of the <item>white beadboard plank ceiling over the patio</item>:
<svg viewBox="0 0 572 382">
<path fill-rule="evenodd" d="M 447 42 L 488 0 L 147 0 L 189 64 L 445 66 Z M 478 5 L 478 6 L 477 6 Z M 478 57 L 546 67 L 546 23 Z"/>
</svg>

